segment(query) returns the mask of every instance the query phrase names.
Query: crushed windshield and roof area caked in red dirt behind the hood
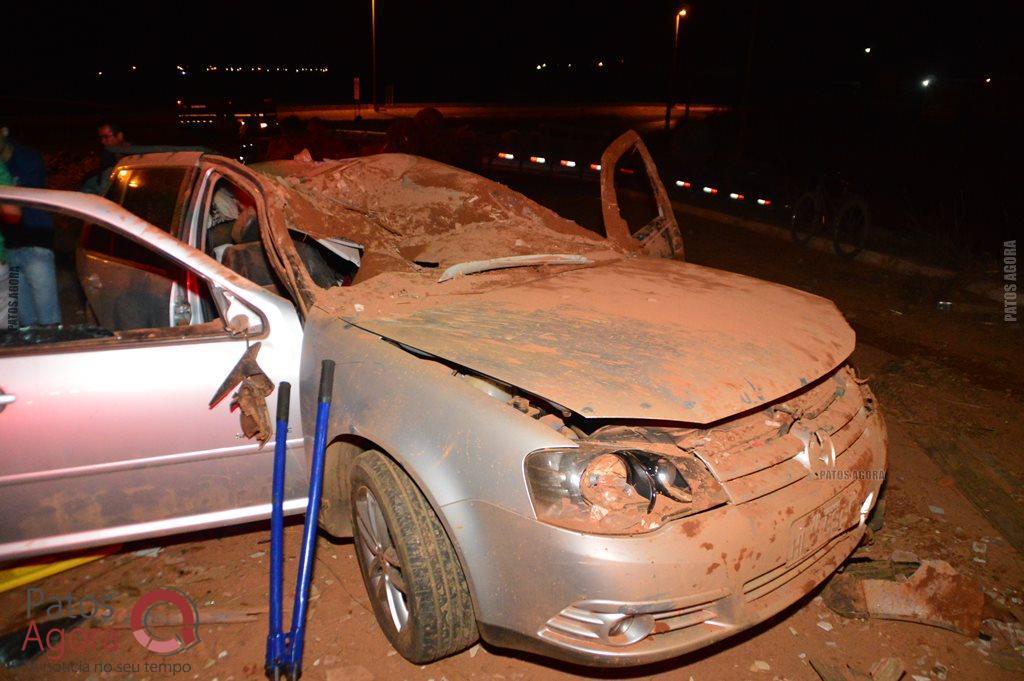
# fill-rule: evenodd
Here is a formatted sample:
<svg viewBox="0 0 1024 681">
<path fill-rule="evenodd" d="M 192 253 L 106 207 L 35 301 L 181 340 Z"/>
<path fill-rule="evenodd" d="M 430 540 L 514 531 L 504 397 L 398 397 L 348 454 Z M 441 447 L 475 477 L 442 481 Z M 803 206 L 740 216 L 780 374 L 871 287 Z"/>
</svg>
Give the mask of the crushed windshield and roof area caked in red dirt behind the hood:
<svg viewBox="0 0 1024 681">
<path fill-rule="evenodd" d="M 256 169 L 279 178 L 289 229 L 362 247 L 354 288 L 383 273 L 409 286 L 436 283 L 467 261 L 543 254 L 603 260 L 616 253 L 603 238 L 503 184 L 420 157 L 283 161 Z"/>
</svg>

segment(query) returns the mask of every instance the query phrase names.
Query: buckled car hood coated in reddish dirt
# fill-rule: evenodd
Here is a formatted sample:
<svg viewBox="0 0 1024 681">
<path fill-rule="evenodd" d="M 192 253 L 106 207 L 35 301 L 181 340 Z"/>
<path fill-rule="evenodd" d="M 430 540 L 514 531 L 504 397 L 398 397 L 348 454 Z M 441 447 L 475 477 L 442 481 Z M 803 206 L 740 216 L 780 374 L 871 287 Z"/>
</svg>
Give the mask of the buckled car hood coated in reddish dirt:
<svg viewBox="0 0 1024 681">
<path fill-rule="evenodd" d="M 828 300 L 649 258 L 342 316 L 588 418 L 712 423 L 798 390 L 854 347 Z"/>
</svg>

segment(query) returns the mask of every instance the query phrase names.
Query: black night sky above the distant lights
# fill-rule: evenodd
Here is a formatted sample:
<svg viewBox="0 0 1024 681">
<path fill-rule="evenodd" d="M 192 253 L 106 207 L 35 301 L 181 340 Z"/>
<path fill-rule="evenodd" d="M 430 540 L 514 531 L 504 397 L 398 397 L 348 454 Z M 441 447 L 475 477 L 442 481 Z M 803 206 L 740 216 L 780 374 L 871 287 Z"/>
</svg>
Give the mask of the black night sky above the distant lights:
<svg viewBox="0 0 1024 681">
<path fill-rule="evenodd" d="M 972 2 L 959 9 L 881 0 L 689 4 L 681 63 L 691 69 L 695 94 L 706 98 L 728 100 L 741 88 L 756 5 L 754 77 L 762 87 L 856 80 L 865 69 L 908 83 L 925 75 L 1006 80 L 1016 79 L 1022 66 L 1016 3 Z M 378 0 L 381 88 L 394 83 L 406 100 L 657 99 L 678 6 L 664 0 Z M 5 13 L 5 60 L 14 75 L 7 96 L 88 98 L 96 91 L 96 70 L 123 75 L 131 63 L 139 67 L 134 81 L 116 89 L 137 94 L 166 95 L 162 79 L 179 62 L 331 67 L 329 76 L 264 81 L 275 90 L 270 94 L 286 98 L 345 100 L 352 75 L 362 76 L 365 88 L 370 81 L 370 0 L 265 8 L 195 0 L 63 9 L 24 3 Z M 869 56 L 865 46 L 872 48 Z M 603 72 L 594 66 L 598 59 L 608 65 Z M 538 72 L 542 62 L 549 69 Z"/>
</svg>

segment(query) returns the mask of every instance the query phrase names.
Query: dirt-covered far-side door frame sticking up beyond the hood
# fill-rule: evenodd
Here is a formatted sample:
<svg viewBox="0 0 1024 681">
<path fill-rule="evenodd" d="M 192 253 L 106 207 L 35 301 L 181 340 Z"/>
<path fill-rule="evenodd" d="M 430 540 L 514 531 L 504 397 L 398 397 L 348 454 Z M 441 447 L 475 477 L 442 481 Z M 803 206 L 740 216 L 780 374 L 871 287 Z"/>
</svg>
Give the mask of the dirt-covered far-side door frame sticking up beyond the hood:
<svg viewBox="0 0 1024 681">
<path fill-rule="evenodd" d="M 623 157 L 634 150 L 643 162 L 657 214 L 649 222 L 631 232 L 620 207 L 615 173 Z M 639 248 L 655 257 L 686 259 L 683 235 L 676 222 L 669 194 L 665 190 L 665 184 L 662 183 L 657 166 L 654 165 L 647 145 L 634 130 L 624 132 L 608 144 L 601 155 L 601 213 L 604 218 L 604 232 L 608 239 L 627 248 Z"/>
</svg>

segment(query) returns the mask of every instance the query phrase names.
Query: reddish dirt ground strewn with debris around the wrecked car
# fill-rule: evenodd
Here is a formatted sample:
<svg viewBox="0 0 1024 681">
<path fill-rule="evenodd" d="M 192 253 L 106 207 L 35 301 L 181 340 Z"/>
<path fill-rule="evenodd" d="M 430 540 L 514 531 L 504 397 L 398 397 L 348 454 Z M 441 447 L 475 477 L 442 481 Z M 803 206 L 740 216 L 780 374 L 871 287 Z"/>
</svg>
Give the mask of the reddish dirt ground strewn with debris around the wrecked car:
<svg viewBox="0 0 1024 681">
<path fill-rule="evenodd" d="M 540 197 L 538 197 L 540 198 Z M 842 262 L 830 255 L 735 227 L 680 216 L 688 259 L 805 289 L 834 299 L 858 335 L 854 361 L 879 397 L 890 434 L 887 519 L 859 556 L 894 551 L 948 561 L 977 580 L 993 599 L 1021 611 L 1024 590 L 1024 363 L 1019 325 L 1001 321 L 1001 305 L 966 292 L 966 282 L 921 280 Z M 999 263 L 990 276 L 998 286 Z M 937 300 L 951 300 L 940 311 Z M 770 310 L 751 310 L 752 314 Z M 301 526 L 288 528 L 286 579 L 294 579 Z M 159 551 L 136 553 L 139 549 Z M 132 602 L 155 586 L 181 589 L 206 615 L 247 622 L 204 624 L 199 644 L 173 657 L 147 653 L 117 629 L 119 649 L 55 652 L 8 672 L 14 679 L 73 676 L 60 663 L 136 665 L 133 679 L 216 679 L 263 676 L 268 529 L 250 525 L 147 545 L 35 585 L 46 594 L 118 594 Z M 153 555 L 155 553 L 155 555 Z M 286 593 L 287 590 L 286 590 Z M 303 678 L 352 679 L 816 679 L 810 659 L 866 671 L 899 657 L 910 675 L 931 679 L 1013 679 L 1024 676 L 1020 651 L 927 627 L 834 614 L 819 591 L 779 615 L 711 648 L 635 670 L 591 670 L 475 645 L 420 667 L 397 655 L 381 634 L 350 543 L 321 538 L 306 638 Z M 0 595 L 2 628 L 24 622 L 25 589 Z M 248 613 L 248 614 L 247 614 Z M 287 616 L 287 612 L 286 612 Z M 209 616 L 207 618 L 210 619 Z M 287 620 L 286 620 L 287 621 Z M 176 674 L 146 663 L 188 665 Z M 123 678 L 90 671 L 78 678 Z"/>
</svg>

